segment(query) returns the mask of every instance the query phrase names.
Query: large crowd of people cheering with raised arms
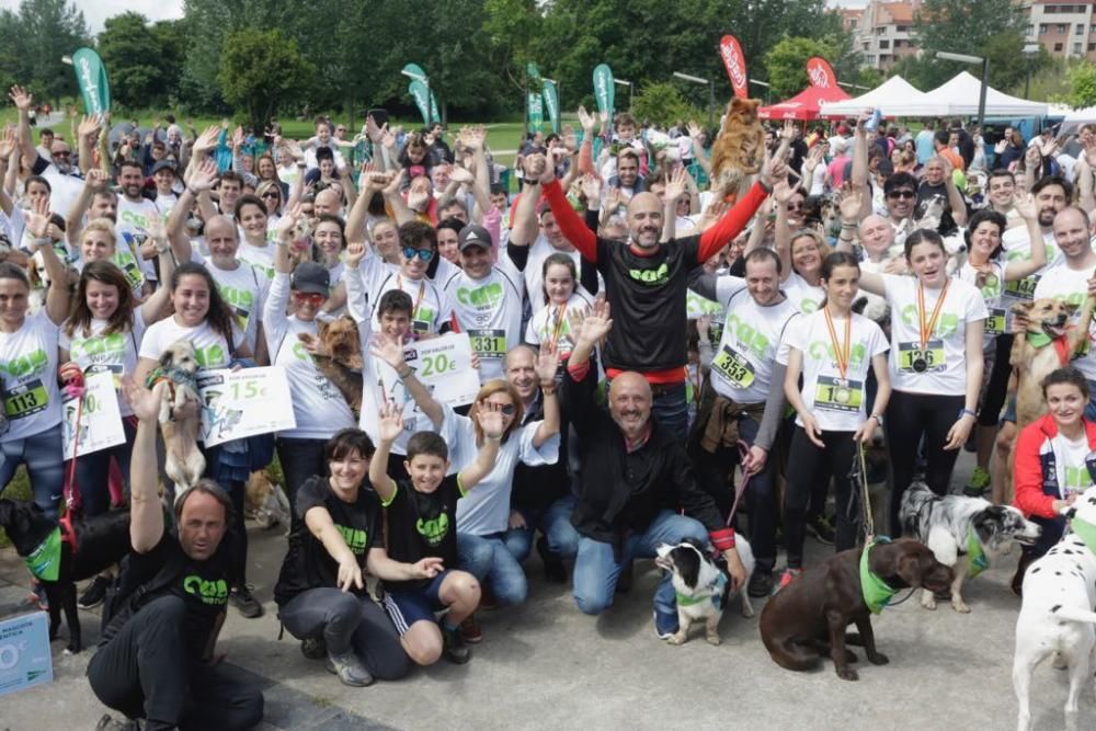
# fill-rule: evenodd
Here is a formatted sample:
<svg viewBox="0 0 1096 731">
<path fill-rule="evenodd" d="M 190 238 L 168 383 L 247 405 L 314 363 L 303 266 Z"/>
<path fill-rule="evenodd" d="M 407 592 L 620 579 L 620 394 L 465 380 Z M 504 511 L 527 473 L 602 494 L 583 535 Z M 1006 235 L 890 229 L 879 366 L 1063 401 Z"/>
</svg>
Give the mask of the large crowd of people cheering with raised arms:
<svg viewBox="0 0 1096 731">
<path fill-rule="evenodd" d="M 202 445 L 205 478 L 165 518 L 167 386 L 150 376 L 181 340 L 202 369 L 284 370 L 295 426 L 273 442 L 292 529 L 273 603 L 306 656 L 363 686 L 468 662 L 477 610 L 527 601 L 534 549 L 589 615 L 629 590 L 636 559 L 685 538 L 719 552 L 750 595 L 779 591 L 803 571 L 808 534 L 838 551 L 863 539 L 852 468 L 883 435 L 880 533 L 900 535 L 917 476 L 1000 502 L 1024 325 L 1011 306 L 1096 293 L 1087 127 L 1066 156 L 1064 140 L 1025 145 L 1012 129 L 986 149 L 978 129 L 941 121 L 869 132 L 870 111 L 786 124 L 728 201 L 707 190 L 710 132 L 580 108 L 579 129 L 523 142 L 512 196 L 481 127 L 450 147 L 442 125 L 370 117 L 346 140 L 320 117 L 313 137 L 274 126 L 264 146 L 168 118 L 110 144 L 104 121 L 84 117 L 72 139 L 41 129 L 36 146 L 31 94 L 10 98 L 0 490 L 25 466 L 47 515 L 73 491 L 85 516 L 132 507 L 121 580 L 96 578 L 80 602 L 144 590 L 88 674 L 149 729 L 262 716 L 215 646 L 228 605 L 264 614 L 247 581 L 244 484 L 271 455 L 261 441 Z M 361 341 L 359 399 L 321 366 L 321 335 L 341 319 Z M 470 404 L 435 398 L 407 362 L 449 333 L 468 335 Z M 1096 443 L 1084 415 L 1096 355 L 1072 361 L 1047 387 L 1041 431 L 1016 445 L 1017 504 L 1059 533 Z M 101 372 L 125 439 L 70 465 L 62 387 Z M 952 486 L 964 445 L 979 467 Z M 677 630 L 669 576 L 654 630 Z"/>
</svg>

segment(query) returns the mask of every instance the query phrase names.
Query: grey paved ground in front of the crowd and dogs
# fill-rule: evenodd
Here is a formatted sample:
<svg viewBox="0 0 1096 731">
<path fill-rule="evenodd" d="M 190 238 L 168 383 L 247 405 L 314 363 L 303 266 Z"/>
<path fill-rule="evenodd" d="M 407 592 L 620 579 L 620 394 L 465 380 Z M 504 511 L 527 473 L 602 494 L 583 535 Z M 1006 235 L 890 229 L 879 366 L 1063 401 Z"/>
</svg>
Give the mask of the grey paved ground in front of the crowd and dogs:
<svg viewBox="0 0 1096 731">
<path fill-rule="evenodd" d="M 969 471 L 963 456 L 960 476 Z M 468 665 L 446 663 L 399 683 L 347 688 L 292 639 L 277 641 L 271 587 L 284 551 L 281 535 L 252 532 L 256 594 L 267 616 L 229 616 L 220 650 L 265 686 L 264 729 L 1007 729 L 1015 727 L 1011 667 L 1019 601 L 1007 591 L 1012 567 L 995 567 L 968 586 L 973 608 L 921 608 L 916 597 L 888 608 L 874 626 L 887 666 L 860 665 L 860 681 L 838 679 L 826 662 L 812 673 L 775 665 L 757 619 L 728 612 L 723 644 L 699 637 L 676 648 L 657 640 L 651 601 L 658 575 L 639 564 L 632 592 L 600 618 L 581 615 L 567 589 L 546 584 L 530 564 L 529 602 L 484 613 L 486 639 Z M 810 539 L 814 559 L 824 556 Z M 0 617 L 26 594 L 26 573 L 0 551 Z M 760 614 L 762 603 L 756 603 Z M 94 644 L 98 615 L 81 613 Z M 696 628 L 699 629 L 699 628 Z M 696 631 L 696 630 L 695 630 Z M 0 700 L 0 729 L 92 729 L 104 709 L 83 678 L 90 651 L 65 658 L 55 643 L 57 679 Z M 861 653 L 863 655 L 863 653 Z M 1062 727 L 1066 677 L 1044 665 L 1032 698 L 1036 728 Z M 1081 728 L 1096 728 L 1093 690 Z"/>
</svg>

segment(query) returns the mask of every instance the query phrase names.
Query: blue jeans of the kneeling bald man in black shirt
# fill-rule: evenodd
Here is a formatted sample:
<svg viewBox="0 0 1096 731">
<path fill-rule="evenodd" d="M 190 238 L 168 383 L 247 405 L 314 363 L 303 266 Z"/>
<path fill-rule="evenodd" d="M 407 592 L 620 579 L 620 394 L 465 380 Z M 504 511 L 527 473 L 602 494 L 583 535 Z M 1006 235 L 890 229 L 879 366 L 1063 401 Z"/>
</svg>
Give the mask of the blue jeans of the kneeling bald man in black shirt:
<svg viewBox="0 0 1096 731">
<path fill-rule="evenodd" d="M 620 572 L 632 559 L 654 558 L 655 546 L 678 544 L 683 538 L 707 542 L 708 532 L 698 521 L 667 510 L 660 511 L 643 533 L 631 533 L 625 537 L 619 561 L 610 544 L 580 537 L 579 556 L 574 560 L 574 603 L 585 614 L 605 612 L 613 605 Z M 669 573 L 662 576 L 654 592 L 654 612 L 667 620 L 672 617 L 673 625 L 677 624 L 677 601 Z"/>
</svg>

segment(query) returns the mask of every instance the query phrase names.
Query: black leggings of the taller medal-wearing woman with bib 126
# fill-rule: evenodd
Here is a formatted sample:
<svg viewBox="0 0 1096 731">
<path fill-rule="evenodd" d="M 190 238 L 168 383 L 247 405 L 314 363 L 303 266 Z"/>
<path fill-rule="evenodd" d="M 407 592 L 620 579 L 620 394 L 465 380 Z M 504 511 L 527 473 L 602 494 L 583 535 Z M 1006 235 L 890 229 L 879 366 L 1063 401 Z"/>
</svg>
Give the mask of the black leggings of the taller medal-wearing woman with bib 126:
<svg viewBox="0 0 1096 731">
<path fill-rule="evenodd" d="M 913 482 L 917 448 L 925 441 L 925 482 L 938 495 L 946 495 L 958 449 L 945 449 L 948 430 L 959 419 L 966 399 L 962 396 L 933 396 L 893 391 L 887 406 L 887 446 L 890 449 L 894 484 L 891 489 L 891 536 L 902 534 L 899 512 L 902 493 Z"/>
</svg>

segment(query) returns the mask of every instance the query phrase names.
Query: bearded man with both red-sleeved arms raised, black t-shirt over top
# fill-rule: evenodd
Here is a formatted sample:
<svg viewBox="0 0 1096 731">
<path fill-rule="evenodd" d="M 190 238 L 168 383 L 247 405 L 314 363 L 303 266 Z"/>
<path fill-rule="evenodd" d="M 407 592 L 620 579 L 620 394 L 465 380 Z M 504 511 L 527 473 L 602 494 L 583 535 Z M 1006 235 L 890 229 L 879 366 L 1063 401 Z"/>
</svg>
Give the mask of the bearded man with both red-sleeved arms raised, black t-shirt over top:
<svg viewBox="0 0 1096 731">
<path fill-rule="evenodd" d="M 768 161 L 761 180 L 699 236 L 661 243 L 663 206 L 653 193 L 639 193 L 628 204 L 628 242 L 597 237 L 567 202 L 549 160 L 540 176 L 556 222 L 583 259 L 605 279 L 605 293 L 617 327 L 603 349 L 609 379 L 635 370 L 650 384 L 654 412 L 663 426 L 684 441 L 688 430 L 685 406 L 685 299 L 689 271 L 716 255 L 753 217 L 786 174 L 779 160 Z"/>
</svg>

